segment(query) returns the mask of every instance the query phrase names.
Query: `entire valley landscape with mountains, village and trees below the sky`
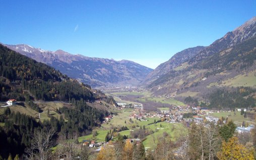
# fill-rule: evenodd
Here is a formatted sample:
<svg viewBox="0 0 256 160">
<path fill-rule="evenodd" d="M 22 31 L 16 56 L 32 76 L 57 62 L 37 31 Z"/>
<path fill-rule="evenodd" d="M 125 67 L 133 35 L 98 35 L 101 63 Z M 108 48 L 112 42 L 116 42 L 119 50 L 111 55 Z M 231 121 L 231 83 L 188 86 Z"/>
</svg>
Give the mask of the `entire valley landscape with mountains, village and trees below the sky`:
<svg viewBox="0 0 256 160">
<path fill-rule="evenodd" d="M 0 160 L 254 159 L 256 17 L 169 58 L 0 43 Z"/>
</svg>

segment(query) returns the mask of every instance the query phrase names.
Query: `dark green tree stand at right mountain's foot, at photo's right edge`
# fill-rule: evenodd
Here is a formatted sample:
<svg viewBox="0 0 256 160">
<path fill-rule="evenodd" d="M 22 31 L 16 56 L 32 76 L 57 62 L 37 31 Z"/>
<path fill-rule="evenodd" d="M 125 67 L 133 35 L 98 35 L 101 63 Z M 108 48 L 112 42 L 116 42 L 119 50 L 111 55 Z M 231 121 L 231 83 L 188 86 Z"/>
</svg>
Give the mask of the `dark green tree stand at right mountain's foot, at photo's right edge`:
<svg viewBox="0 0 256 160">
<path fill-rule="evenodd" d="M 249 87 L 238 87 L 235 91 L 228 91 L 226 89 L 217 89 L 208 95 L 210 104 L 209 108 L 252 108 L 255 107 L 256 97 L 255 89 Z"/>
</svg>

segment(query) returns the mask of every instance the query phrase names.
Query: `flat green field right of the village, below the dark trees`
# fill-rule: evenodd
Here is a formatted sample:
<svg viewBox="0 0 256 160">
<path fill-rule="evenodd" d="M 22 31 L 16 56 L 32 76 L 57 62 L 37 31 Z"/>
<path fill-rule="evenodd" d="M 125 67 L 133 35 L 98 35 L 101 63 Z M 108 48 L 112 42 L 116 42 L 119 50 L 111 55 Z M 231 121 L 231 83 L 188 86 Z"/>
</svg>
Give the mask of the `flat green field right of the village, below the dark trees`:
<svg viewBox="0 0 256 160">
<path fill-rule="evenodd" d="M 235 114 L 234 114 L 235 113 Z M 249 123 L 254 123 L 254 120 L 250 119 L 250 118 L 244 118 L 243 115 L 240 114 L 241 112 L 220 112 L 220 113 L 213 113 L 214 117 L 217 118 L 227 118 L 232 120 L 235 124 L 237 125 L 241 125 L 243 121 L 245 122 L 249 122 Z"/>
</svg>

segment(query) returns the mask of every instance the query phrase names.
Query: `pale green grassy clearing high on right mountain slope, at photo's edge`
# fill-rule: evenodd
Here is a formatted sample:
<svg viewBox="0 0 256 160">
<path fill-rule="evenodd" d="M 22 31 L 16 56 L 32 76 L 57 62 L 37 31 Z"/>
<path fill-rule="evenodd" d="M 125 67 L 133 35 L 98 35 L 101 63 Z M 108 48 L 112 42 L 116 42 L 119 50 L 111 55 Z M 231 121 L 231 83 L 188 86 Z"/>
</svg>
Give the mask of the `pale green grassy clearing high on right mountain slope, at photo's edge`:
<svg viewBox="0 0 256 160">
<path fill-rule="evenodd" d="M 255 72 L 255 71 L 254 71 Z M 240 74 L 234 78 L 228 79 L 227 81 L 222 82 L 224 86 L 246 86 L 246 87 L 256 87 L 256 76 L 254 72 L 250 72 L 247 75 Z"/>
</svg>

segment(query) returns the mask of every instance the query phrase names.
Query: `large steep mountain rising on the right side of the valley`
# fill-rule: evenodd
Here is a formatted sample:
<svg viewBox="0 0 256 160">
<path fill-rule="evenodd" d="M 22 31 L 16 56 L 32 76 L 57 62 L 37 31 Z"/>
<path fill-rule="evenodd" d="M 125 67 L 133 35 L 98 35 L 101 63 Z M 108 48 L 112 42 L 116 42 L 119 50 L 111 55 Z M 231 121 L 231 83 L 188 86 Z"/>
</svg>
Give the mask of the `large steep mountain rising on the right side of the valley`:
<svg viewBox="0 0 256 160">
<path fill-rule="evenodd" d="M 180 59 L 181 58 L 181 59 Z M 256 17 L 207 47 L 188 48 L 159 65 L 144 82 L 155 95 L 203 99 L 217 88 L 256 88 Z"/>
</svg>

